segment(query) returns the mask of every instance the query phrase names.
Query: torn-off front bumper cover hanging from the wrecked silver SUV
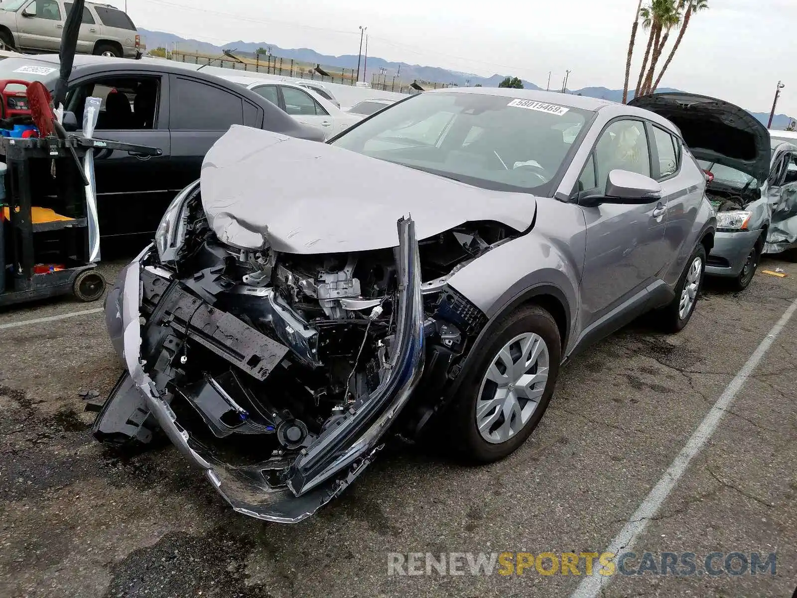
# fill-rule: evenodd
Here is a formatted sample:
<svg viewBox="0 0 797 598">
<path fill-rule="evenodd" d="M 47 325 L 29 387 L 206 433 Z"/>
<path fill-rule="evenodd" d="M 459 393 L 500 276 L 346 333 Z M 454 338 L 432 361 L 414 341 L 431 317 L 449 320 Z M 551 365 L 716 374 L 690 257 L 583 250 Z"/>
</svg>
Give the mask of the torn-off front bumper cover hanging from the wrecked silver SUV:
<svg viewBox="0 0 797 598">
<path fill-rule="evenodd" d="M 169 401 L 143 369 L 140 355 L 139 305 L 141 262 L 147 248 L 123 270 L 106 303 L 108 333 L 128 372 L 123 376 L 94 423 L 99 439 L 114 434 L 147 442 L 151 428 L 160 427 L 188 459 L 202 470 L 219 494 L 238 512 L 269 521 L 301 521 L 340 494 L 371 462 L 384 433 L 395 421 L 423 371 L 423 309 L 420 293 L 418 242 L 414 222 L 398 221 L 399 246 L 396 350 L 379 387 L 328 427 L 293 462 L 270 458 L 233 466 L 215 458 L 191 439 Z M 249 372 L 251 373 L 251 372 Z"/>
</svg>

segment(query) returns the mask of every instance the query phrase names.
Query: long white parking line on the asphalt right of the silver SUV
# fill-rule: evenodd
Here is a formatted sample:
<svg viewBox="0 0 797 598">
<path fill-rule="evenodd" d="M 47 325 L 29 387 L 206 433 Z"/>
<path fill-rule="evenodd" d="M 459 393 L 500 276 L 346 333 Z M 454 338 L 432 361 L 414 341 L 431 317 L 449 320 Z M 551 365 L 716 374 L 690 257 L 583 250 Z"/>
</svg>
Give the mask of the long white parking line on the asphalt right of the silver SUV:
<svg viewBox="0 0 797 598">
<path fill-rule="evenodd" d="M 610 542 L 604 552 L 612 553 L 616 556 L 620 551 L 630 549 L 630 547 L 634 545 L 634 542 L 637 541 L 638 537 L 647 527 L 650 518 L 658 513 L 658 509 L 661 508 L 665 498 L 673 491 L 681 475 L 683 475 L 686 468 L 689 467 L 689 462 L 700 452 L 706 441 L 711 439 L 714 431 L 717 430 L 717 425 L 724 417 L 725 411 L 732 405 L 733 400 L 736 399 L 736 393 L 738 393 L 744 386 L 744 383 L 747 382 L 753 370 L 756 369 L 756 366 L 760 363 L 766 352 L 768 352 L 772 343 L 775 342 L 780 332 L 783 331 L 783 327 L 794 315 L 795 310 L 797 310 L 797 300 L 783 313 L 778 323 L 772 326 L 766 338 L 761 341 L 761 344 L 758 345 L 758 348 L 756 348 L 756 351 L 750 356 L 750 359 L 747 360 L 747 363 L 742 366 L 736 376 L 733 377 L 730 384 L 725 387 L 722 395 L 717 399 L 717 403 L 714 403 L 711 411 L 705 416 L 701 424 L 697 427 L 697 430 L 694 431 L 685 447 L 681 449 L 681 452 L 678 453 L 677 457 L 670 463 L 664 475 L 662 475 L 662 478 L 658 481 L 656 486 L 654 486 L 654 489 L 650 490 L 650 494 L 642 501 L 642 504 L 634 514 L 631 515 L 626 525 L 624 525 L 620 533 L 614 537 L 614 540 Z M 597 596 L 600 596 L 601 590 L 605 588 L 607 584 L 609 584 L 609 580 L 611 580 L 611 576 L 599 574 L 601 569 L 602 568 L 598 567 L 593 568 L 592 575 L 583 578 L 579 587 L 575 588 L 575 592 L 572 593 L 571 598 L 597 598 Z"/>
</svg>

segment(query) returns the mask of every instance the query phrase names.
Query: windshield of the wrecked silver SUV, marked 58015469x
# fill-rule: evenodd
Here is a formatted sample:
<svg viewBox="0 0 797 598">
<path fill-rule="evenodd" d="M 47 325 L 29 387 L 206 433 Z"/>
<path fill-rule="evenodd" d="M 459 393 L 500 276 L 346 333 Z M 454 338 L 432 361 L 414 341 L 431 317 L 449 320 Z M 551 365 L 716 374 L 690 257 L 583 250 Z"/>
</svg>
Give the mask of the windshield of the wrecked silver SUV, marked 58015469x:
<svg viewBox="0 0 797 598">
<path fill-rule="evenodd" d="M 578 137 L 573 132 L 583 132 L 592 114 L 511 96 L 428 92 L 332 144 L 475 187 L 544 194 Z"/>
</svg>

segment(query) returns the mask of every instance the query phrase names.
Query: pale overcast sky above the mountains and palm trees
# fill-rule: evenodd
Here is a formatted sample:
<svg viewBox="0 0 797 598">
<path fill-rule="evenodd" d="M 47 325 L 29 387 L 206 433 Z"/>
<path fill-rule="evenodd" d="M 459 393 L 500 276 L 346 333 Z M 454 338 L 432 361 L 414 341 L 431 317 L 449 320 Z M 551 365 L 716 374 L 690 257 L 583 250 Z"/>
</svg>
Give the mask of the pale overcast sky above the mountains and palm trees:
<svg viewBox="0 0 797 598">
<path fill-rule="evenodd" d="M 110 0 L 124 7 L 124 0 Z M 622 88 L 637 0 L 128 0 L 135 24 L 222 45 L 267 41 L 326 54 L 356 54 L 367 26 L 368 54 L 489 76 L 512 74 L 545 87 L 548 71 L 569 89 Z M 662 81 L 756 112 L 797 116 L 797 2 L 709 0 L 696 14 Z M 641 28 L 640 28 L 641 31 Z M 673 37 L 675 33 L 673 33 Z M 646 34 L 638 36 L 636 83 Z M 663 62 L 663 58 L 662 58 Z"/>
</svg>

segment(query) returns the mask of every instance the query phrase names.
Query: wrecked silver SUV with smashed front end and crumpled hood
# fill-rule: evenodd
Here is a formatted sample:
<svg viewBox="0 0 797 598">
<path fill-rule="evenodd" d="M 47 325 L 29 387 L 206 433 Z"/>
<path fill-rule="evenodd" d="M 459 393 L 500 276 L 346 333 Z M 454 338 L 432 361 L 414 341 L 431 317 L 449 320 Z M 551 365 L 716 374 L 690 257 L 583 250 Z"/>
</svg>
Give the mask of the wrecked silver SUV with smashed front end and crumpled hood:
<svg viewBox="0 0 797 598">
<path fill-rule="evenodd" d="M 503 458 L 568 357 L 651 309 L 687 324 L 705 183 L 668 120 L 580 96 L 427 92 L 328 144 L 234 126 L 108 297 L 127 372 L 94 433 L 163 431 L 284 522 L 388 432 Z"/>
</svg>

